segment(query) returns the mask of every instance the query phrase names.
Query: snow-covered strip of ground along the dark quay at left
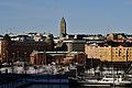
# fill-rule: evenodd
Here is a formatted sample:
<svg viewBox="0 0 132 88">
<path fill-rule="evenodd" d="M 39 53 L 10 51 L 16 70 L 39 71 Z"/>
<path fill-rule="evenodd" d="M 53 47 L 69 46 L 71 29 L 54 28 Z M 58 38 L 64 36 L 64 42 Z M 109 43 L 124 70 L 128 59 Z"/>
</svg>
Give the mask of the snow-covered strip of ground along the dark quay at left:
<svg viewBox="0 0 132 88">
<path fill-rule="evenodd" d="M 45 66 L 13 66 L 13 67 L 2 67 L 0 68 L 1 74 L 14 73 L 14 74 L 58 74 L 68 72 L 68 67 L 57 67 L 55 65 Z"/>
</svg>

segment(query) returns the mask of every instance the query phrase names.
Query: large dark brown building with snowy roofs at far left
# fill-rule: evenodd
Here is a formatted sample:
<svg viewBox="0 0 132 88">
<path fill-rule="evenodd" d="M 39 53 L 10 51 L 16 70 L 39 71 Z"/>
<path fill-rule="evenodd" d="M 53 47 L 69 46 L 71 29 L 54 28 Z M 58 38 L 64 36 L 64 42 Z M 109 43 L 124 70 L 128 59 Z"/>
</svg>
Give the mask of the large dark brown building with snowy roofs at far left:
<svg viewBox="0 0 132 88">
<path fill-rule="evenodd" d="M 53 51 L 53 35 L 47 34 L 33 37 L 29 35 L 9 36 L 8 34 L 0 40 L 1 62 L 30 61 L 30 54 L 35 51 Z"/>
</svg>

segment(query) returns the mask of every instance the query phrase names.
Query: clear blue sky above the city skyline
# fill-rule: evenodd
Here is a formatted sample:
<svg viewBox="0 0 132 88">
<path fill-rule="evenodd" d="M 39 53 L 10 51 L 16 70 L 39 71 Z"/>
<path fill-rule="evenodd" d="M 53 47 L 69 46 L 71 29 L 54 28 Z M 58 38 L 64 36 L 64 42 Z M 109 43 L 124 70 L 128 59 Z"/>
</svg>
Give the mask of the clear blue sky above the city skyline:
<svg viewBox="0 0 132 88">
<path fill-rule="evenodd" d="M 0 0 L 0 34 L 132 34 L 132 0 Z"/>
</svg>

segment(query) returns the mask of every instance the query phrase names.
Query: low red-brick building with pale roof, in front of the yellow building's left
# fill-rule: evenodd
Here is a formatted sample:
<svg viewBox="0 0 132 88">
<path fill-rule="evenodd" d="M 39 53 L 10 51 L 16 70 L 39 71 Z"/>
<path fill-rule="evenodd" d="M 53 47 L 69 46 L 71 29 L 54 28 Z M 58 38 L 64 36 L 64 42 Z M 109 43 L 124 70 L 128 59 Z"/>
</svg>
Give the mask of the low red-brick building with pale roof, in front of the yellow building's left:
<svg viewBox="0 0 132 88">
<path fill-rule="evenodd" d="M 54 62 L 57 65 L 86 64 L 86 54 L 84 52 L 36 52 L 30 55 L 30 61 L 34 65 L 47 65 Z"/>
</svg>

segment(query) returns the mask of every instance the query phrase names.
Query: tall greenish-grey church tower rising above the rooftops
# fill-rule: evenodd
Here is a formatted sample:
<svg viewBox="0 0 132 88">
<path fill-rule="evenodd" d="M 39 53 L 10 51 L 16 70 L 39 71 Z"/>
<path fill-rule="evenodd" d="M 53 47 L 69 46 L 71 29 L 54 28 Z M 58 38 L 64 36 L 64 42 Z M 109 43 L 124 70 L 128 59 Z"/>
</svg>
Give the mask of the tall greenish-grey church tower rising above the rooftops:
<svg viewBox="0 0 132 88">
<path fill-rule="evenodd" d="M 66 36 L 66 21 L 64 18 L 62 18 L 59 24 L 59 37 L 65 37 L 65 36 Z"/>
</svg>

